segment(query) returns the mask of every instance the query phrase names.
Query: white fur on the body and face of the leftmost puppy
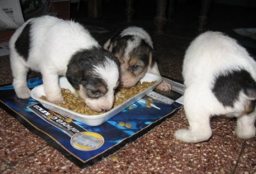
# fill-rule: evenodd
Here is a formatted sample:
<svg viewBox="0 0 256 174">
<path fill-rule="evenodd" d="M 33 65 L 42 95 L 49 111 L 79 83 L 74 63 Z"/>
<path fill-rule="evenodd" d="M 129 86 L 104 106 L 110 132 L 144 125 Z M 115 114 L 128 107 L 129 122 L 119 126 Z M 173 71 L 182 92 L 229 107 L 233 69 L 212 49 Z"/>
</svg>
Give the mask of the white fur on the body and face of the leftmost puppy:
<svg viewBox="0 0 256 174">
<path fill-rule="evenodd" d="M 23 31 L 25 25 L 32 22 L 31 28 L 31 48 L 29 50 L 28 61 L 17 53 L 14 44 Z M 72 55 L 81 49 L 90 49 L 91 47 L 100 47 L 97 41 L 91 37 L 90 32 L 79 23 L 61 20 L 56 17 L 43 16 L 28 20 L 23 24 L 10 39 L 10 61 L 13 73 L 13 85 L 17 97 L 28 98 L 29 88 L 26 85 L 26 73 L 28 69 L 39 71 L 43 76 L 44 92 L 47 100 L 59 103 L 64 102 L 61 90 L 58 84 L 59 76 L 66 76 L 67 65 Z M 117 65 L 112 65 L 113 61 L 107 59 L 106 64 L 112 66 L 103 72 L 104 68 L 98 68 L 99 76 L 118 76 Z M 103 72 L 103 73 L 102 73 Z M 118 77 L 115 77 L 117 83 Z M 112 89 L 113 82 L 106 77 L 109 82 L 109 89 Z M 115 84 L 116 85 L 116 84 Z M 113 92 L 109 94 L 112 95 Z M 113 96 L 114 97 L 114 94 Z M 109 101 L 109 100 L 108 100 Z M 97 107 L 95 103 L 104 103 L 94 101 L 91 106 Z M 105 101 L 106 103 L 106 101 Z M 107 106 L 105 106 L 107 105 Z M 109 104 L 102 104 L 109 109 Z M 104 109 L 104 107 L 102 107 Z"/>
</svg>

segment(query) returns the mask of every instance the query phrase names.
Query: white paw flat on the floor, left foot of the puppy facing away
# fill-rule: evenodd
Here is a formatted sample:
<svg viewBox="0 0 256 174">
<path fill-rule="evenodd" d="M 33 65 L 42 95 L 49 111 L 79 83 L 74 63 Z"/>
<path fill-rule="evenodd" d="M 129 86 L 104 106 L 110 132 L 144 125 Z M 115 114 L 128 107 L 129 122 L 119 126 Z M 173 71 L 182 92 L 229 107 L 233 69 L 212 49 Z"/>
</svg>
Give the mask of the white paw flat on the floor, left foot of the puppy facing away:
<svg viewBox="0 0 256 174">
<path fill-rule="evenodd" d="M 191 130 L 177 130 L 174 134 L 174 137 L 182 142 L 186 143 L 199 143 L 204 142 L 210 138 L 212 132 L 210 134 L 202 134 L 202 133 L 194 133 Z"/>
</svg>

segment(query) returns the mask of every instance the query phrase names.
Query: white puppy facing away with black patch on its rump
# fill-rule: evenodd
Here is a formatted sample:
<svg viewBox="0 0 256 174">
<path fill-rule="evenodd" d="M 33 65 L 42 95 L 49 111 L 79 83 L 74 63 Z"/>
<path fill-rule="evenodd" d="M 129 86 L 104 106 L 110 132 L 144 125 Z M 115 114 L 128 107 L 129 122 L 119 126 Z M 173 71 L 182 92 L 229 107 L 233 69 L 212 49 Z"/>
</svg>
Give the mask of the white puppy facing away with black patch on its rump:
<svg viewBox="0 0 256 174">
<path fill-rule="evenodd" d="M 236 134 L 255 136 L 256 62 L 236 40 L 208 31 L 190 44 L 184 56 L 184 111 L 189 130 L 175 137 L 189 143 L 212 136 L 210 117 L 237 117 Z"/>
</svg>

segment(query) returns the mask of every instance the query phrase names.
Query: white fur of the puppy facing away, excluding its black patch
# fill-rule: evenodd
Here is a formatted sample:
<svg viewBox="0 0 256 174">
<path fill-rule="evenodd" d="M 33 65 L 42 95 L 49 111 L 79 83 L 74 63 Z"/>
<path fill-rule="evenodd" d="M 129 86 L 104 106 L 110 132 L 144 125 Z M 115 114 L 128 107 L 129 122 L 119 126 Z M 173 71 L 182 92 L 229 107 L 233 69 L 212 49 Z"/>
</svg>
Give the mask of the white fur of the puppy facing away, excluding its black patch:
<svg viewBox="0 0 256 174">
<path fill-rule="evenodd" d="M 225 107 L 212 92 L 216 74 L 241 69 L 247 70 L 256 81 L 256 62 L 233 38 L 209 31 L 192 41 L 183 62 L 184 110 L 190 128 L 176 131 L 177 139 L 192 143 L 209 139 L 212 136 L 210 116 L 213 115 L 237 116 L 237 136 L 242 139 L 255 136 L 256 110 L 241 115 L 246 101 L 255 98 L 240 92 L 234 107 Z"/>
</svg>

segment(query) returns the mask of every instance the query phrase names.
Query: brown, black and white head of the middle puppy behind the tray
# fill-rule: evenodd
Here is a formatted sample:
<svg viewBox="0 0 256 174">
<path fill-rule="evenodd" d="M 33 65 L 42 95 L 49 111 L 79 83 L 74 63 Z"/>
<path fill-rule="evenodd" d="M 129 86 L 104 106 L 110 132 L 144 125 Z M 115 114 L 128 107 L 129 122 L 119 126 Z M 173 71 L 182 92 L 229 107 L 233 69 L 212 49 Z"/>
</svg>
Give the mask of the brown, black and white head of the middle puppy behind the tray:
<svg viewBox="0 0 256 174">
<path fill-rule="evenodd" d="M 121 85 L 134 86 L 153 65 L 153 47 L 136 35 L 115 37 L 106 48 L 120 61 Z"/>
</svg>

